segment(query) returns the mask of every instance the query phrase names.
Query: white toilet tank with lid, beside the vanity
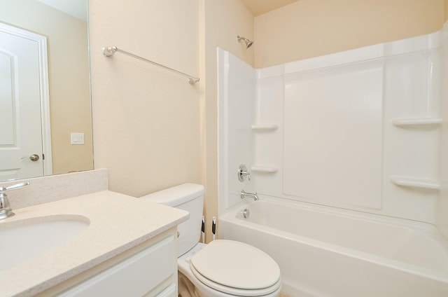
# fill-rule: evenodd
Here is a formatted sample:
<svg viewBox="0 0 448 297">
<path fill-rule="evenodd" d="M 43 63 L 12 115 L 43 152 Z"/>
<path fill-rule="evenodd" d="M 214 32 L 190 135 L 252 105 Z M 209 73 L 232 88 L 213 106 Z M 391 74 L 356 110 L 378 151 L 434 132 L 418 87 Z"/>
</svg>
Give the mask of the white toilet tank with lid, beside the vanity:
<svg viewBox="0 0 448 297">
<path fill-rule="evenodd" d="M 190 218 L 177 226 L 177 230 L 179 231 L 178 256 L 185 254 L 200 241 L 204 186 L 198 184 L 181 184 L 141 196 L 140 199 L 190 212 Z"/>
</svg>

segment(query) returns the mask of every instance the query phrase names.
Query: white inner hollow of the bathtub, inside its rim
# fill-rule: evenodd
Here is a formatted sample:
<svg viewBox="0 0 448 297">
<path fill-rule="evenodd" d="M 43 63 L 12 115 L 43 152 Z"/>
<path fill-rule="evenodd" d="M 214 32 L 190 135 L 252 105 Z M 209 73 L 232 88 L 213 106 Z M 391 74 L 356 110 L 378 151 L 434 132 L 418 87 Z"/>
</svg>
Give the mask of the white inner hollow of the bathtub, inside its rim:
<svg viewBox="0 0 448 297">
<path fill-rule="evenodd" d="M 248 210 L 246 218 L 244 210 Z M 448 279 L 448 243 L 428 223 L 304 207 L 278 199 L 250 203 L 229 214 L 243 225 L 251 223 L 254 228 L 262 226 L 277 235 L 300 237 L 321 247 L 347 249 L 350 254 L 369 254 L 447 273 Z"/>
</svg>

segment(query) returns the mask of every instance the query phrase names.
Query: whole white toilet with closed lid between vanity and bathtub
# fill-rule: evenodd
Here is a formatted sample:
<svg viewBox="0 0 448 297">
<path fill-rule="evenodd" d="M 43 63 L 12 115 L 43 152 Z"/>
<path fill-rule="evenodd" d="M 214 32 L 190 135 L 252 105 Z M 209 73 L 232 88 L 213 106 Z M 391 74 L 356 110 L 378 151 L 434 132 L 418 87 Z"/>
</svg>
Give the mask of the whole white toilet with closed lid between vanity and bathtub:
<svg viewBox="0 0 448 297">
<path fill-rule="evenodd" d="M 178 226 L 179 296 L 279 296 L 279 265 L 264 251 L 244 242 L 200 243 L 204 186 L 181 184 L 141 199 L 190 212 Z"/>
</svg>

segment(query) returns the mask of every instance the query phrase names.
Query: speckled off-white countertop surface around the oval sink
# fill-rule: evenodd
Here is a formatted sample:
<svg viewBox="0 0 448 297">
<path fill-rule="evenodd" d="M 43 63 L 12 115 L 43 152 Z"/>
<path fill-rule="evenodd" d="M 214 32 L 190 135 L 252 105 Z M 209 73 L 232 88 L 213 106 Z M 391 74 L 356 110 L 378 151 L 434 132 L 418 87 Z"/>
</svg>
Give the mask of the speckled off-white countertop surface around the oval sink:
<svg viewBox="0 0 448 297">
<path fill-rule="evenodd" d="M 85 216 L 90 225 L 61 247 L 0 271 L 0 296 L 33 296 L 188 219 L 188 212 L 181 209 L 111 191 L 13 209 L 13 212 L 15 216 L 0 221 L 0 228 L 4 223 L 53 215 L 59 219 Z M 7 255 L 1 255 L 0 259 L 3 256 Z"/>
</svg>

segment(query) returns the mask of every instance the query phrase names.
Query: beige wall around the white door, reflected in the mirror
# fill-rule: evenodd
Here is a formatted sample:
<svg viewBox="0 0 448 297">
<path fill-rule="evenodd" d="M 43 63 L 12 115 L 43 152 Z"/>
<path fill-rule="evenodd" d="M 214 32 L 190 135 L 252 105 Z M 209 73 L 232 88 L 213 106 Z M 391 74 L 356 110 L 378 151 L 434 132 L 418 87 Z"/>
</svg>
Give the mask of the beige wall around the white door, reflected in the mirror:
<svg viewBox="0 0 448 297">
<path fill-rule="evenodd" d="M 48 39 L 53 173 L 93 169 L 87 23 L 36 0 L 0 7 L 1 22 Z M 71 145 L 71 132 L 85 133 L 85 144 Z"/>
</svg>

